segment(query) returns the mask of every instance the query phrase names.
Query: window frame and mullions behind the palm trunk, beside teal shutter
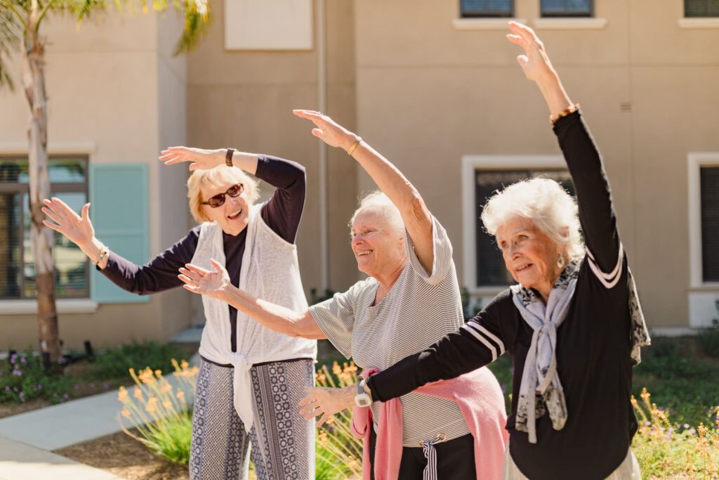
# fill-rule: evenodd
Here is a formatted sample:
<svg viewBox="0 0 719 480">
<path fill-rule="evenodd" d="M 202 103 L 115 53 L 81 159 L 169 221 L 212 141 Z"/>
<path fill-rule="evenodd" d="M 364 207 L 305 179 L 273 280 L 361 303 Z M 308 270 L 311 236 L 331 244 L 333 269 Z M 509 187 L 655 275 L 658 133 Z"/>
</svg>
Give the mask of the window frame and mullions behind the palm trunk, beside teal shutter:
<svg viewBox="0 0 719 480">
<path fill-rule="evenodd" d="M 27 153 L 4 153 L 0 155 L 0 161 L 4 160 L 21 160 L 21 161 L 29 161 L 27 158 Z M 47 161 L 48 163 L 52 162 L 53 160 L 80 160 L 84 165 L 84 171 L 85 171 L 85 181 L 83 183 L 80 182 L 68 182 L 68 183 L 51 183 L 50 184 L 50 194 L 56 195 L 56 194 L 67 194 L 67 193 L 83 193 L 85 194 L 85 199 L 88 201 L 89 199 L 89 185 L 90 185 L 90 158 L 88 154 L 83 153 L 52 153 L 47 155 Z M 32 296 L 26 296 L 25 295 L 25 255 L 24 255 L 24 218 L 25 214 L 25 204 L 24 201 L 22 201 L 24 195 L 29 195 L 30 186 L 28 184 L 21 184 L 19 182 L 0 182 L 0 194 L 19 194 L 20 195 L 20 225 L 19 225 L 19 239 L 20 239 L 20 265 L 19 265 L 19 271 L 20 271 L 20 283 L 18 285 L 19 287 L 19 296 L 15 298 L 0 298 L 0 302 L 36 302 L 37 299 Z M 55 232 L 53 232 L 53 235 L 55 235 Z M 53 243 L 54 247 L 54 243 Z M 53 252 L 53 258 L 52 258 L 53 264 L 55 263 L 55 255 Z M 86 262 L 89 262 L 89 259 L 86 259 Z M 56 294 L 56 298 L 58 300 L 89 300 L 91 298 L 91 291 L 90 291 L 90 268 L 88 263 L 88 268 L 86 268 L 85 273 L 85 284 L 87 292 L 84 295 L 63 295 L 58 296 Z"/>
</svg>

